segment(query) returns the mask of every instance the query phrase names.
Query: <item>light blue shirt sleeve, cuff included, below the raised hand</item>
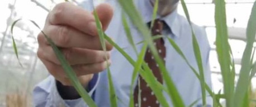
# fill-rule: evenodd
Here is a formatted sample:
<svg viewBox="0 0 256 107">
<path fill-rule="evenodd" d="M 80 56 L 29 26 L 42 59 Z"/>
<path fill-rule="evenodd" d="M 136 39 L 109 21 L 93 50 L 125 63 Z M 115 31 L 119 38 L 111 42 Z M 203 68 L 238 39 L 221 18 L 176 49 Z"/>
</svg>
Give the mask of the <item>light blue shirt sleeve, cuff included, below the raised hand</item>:
<svg viewBox="0 0 256 107">
<path fill-rule="evenodd" d="M 93 93 L 98 85 L 99 74 L 95 74 L 88 84 L 88 94 L 93 98 Z M 82 98 L 74 100 L 64 100 L 61 98 L 56 87 L 56 80 L 51 75 L 39 83 L 33 90 L 33 103 L 36 107 L 80 107 L 88 106 Z"/>
</svg>

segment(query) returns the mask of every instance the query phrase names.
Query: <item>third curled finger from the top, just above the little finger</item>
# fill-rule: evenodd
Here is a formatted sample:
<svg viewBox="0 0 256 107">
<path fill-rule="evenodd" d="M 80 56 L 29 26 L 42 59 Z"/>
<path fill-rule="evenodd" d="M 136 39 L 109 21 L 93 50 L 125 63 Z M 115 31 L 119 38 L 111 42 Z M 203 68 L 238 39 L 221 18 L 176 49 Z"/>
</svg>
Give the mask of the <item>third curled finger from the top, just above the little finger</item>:
<svg viewBox="0 0 256 107">
<path fill-rule="evenodd" d="M 70 65 L 99 63 L 105 61 L 106 57 L 107 60 L 110 58 L 110 52 L 104 52 L 101 50 L 82 48 L 64 48 L 61 50 L 65 56 L 65 59 Z M 60 62 L 56 58 L 54 50 L 50 47 L 50 45 L 38 48 L 37 53 L 38 57 L 50 60 L 51 62 L 60 65 Z"/>
</svg>

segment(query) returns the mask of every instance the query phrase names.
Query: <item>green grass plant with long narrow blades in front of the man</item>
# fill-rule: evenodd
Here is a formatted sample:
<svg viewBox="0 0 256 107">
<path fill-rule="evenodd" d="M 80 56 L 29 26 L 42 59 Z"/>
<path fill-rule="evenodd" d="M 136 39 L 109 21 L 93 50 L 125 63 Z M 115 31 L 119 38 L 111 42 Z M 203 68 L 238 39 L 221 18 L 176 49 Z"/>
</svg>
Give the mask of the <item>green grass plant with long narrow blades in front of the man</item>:
<svg viewBox="0 0 256 107">
<path fill-rule="evenodd" d="M 100 37 L 100 43 L 102 44 L 103 50 L 105 51 L 105 40 L 107 40 L 110 44 L 112 44 L 122 55 L 131 63 L 134 67 L 133 70 L 133 76 L 132 76 L 132 84 L 135 82 L 135 77 L 137 74 L 141 75 L 141 77 L 148 83 L 149 87 L 153 90 L 153 93 L 156 95 L 158 101 L 162 106 L 168 107 L 167 100 L 162 94 L 162 90 L 166 91 L 166 93 L 170 96 L 173 106 L 182 107 L 185 106 L 183 103 L 183 100 L 181 99 L 181 96 L 178 94 L 178 91 L 176 89 L 175 84 L 172 81 L 172 78 L 169 77 L 167 69 L 165 65 L 163 64 L 163 59 L 160 58 L 160 56 L 157 53 L 156 47 L 153 45 L 153 39 L 161 38 L 152 38 L 151 34 L 149 32 L 149 29 L 147 26 L 143 23 L 143 20 L 141 18 L 141 15 L 138 13 L 136 7 L 133 4 L 132 0 L 118 0 L 118 3 L 123 9 L 122 14 L 122 21 L 123 26 L 125 28 L 125 33 L 127 34 L 129 43 L 132 45 L 134 51 L 137 53 L 138 59 L 133 60 L 127 53 L 124 52 L 122 48 L 120 48 L 117 44 L 115 44 L 112 39 L 106 35 L 99 22 L 98 14 L 96 11 L 94 11 L 94 17 L 96 19 L 96 26 L 98 28 L 98 34 Z M 183 7 L 183 10 L 186 14 L 187 20 L 190 23 L 191 32 L 192 32 L 192 46 L 194 48 L 194 54 L 197 62 L 197 68 L 199 71 L 197 71 L 192 65 L 187 61 L 185 55 L 182 53 L 181 49 L 178 47 L 178 45 L 173 41 L 171 38 L 168 38 L 170 44 L 172 47 L 176 50 L 178 54 L 181 55 L 181 57 L 186 61 L 186 63 L 189 65 L 189 67 L 192 69 L 192 72 L 196 75 L 196 77 L 200 80 L 201 83 L 201 90 L 202 90 L 202 104 L 206 105 L 206 91 L 209 93 L 209 95 L 213 99 L 213 106 L 222 106 L 220 104 L 219 99 L 225 99 L 226 100 L 226 106 L 227 107 L 241 107 L 241 106 L 249 106 L 250 101 L 254 101 L 248 97 L 249 93 L 249 85 L 250 81 L 252 80 L 252 77 L 256 73 L 256 63 L 253 62 L 253 43 L 255 39 L 255 31 L 256 31 L 256 2 L 254 2 L 252 13 L 249 18 L 248 27 L 247 27 L 247 45 L 244 50 L 243 58 L 241 61 L 241 70 L 239 74 L 238 83 L 235 84 L 235 66 L 234 66 L 234 59 L 232 55 L 232 51 L 228 42 L 228 31 L 226 26 L 226 13 L 225 13 L 225 1 L 224 0 L 215 0 L 215 24 L 216 24 L 216 51 L 218 53 L 218 60 L 221 67 L 221 75 L 223 77 L 224 81 L 224 94 L 215 94 L 212 92 L 210 87 L 205 83 L 204 80 L 204 70 L 202 66 L 202 60 L 201 60 L 201 54 L 200 54 L 200 48 L 199 44 L 197 43 L 196 36 L 194 33 L 194 30 L 191 26 L 191 21 L 189 17 L 189 12 L 186 7 L 186 3 L 181 0 L 181 4 Z M 156 18 L 156 12 L 157 12 L 157 6 L 158 1 L 156 1 L 156 4 L 154 6 L 154 12 L 153 12 L 153 19 Z M 131 32 L 129 30 L 129 27 L 127 25 L 127 19 L 125 18 L 125 15 L 128 16 L 128 18 L 131 20 L 131 22 L 138 28 L 138 31 L 143 35 L 144 40 L 140 43 L 143 43 L 143 48 L 141 51 L 138 51 L 135 47 L 136 44 L 134 44 Z M 11 31 L 13 31 L 13 27 L 15 24 L 20 21 L 18 19 L 12 24 Z M 36 27 L 37 24 L 33 21 L 31 21 L 33 24 L 35 24 Z M 39 27 L 38 27 L 39 28 Z M 39 28 L 40 29 L 40 28 Z M 57 58 L 60 60 L 62 67 L 65 70 L 65 73 L 68 75 L 69 79 L 73 83 L 75 89 L 78 91 L 78 93 L 81 95 L 81 97 L 84 99 L 86 104 L 89 106 L 96 106 L 94 101 L 90 98 L 88 93 L 85 91 L 83 86 L 79 83 L 78 78 L 76 77 L 75 73 L 73 72 L 73 69 L 70 67 L 70 65 L 66 62 L 64 56 L 60 52 L 59 48 L 56 47 L 56 45 L 52 42 L 52 40 L 44 33 L 45 38 L 47 41 L 51 44 L 51 47 L 54 49 L 55 54 L 57 55 Z M 157 64 L 159 65 L 163 80 L 166 82 L 167 86 L 163 86 L 161 83 L 159 83 L 157 80 L 152 79 L 154 78 L 154 75 L 151 72 L 151 69 L 149 69 L 148 65 L 144 62 L 143 57 L 146 52 L 147 47 L 151 50 L 153 53 L 153 57 L 156 60 Z M 18 50 L 15 44 L 15 39 L 13 38 L 13 48 L 15 49 L 16 56 L 18 58 Z M 112 77 L 111 72 L 109 68 L 107 69 L 108 72 L 108 81 L 109 81 L 109 93 L 110 93 L 110 104 L 111 106 L 115 107 L 117 106 L 117 96 L 115 95 L 114 85 L 112 83 Z M 130 103 L 129 106 L 133 107 L 133 90 L 131 89 L 130 94 Z M 190 106 L 193 106 L 197 103 L 197 101 L 201 100 L 198 99 L 194 103 L 192 103 Z"/>
</svg>

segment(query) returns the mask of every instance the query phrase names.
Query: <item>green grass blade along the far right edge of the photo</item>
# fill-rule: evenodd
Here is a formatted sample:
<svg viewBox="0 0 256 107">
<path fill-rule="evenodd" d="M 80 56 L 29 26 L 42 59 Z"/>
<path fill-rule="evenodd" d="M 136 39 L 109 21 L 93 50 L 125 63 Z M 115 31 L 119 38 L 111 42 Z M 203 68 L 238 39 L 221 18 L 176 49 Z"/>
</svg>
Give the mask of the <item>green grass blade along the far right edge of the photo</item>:
<svg viewBox="0 0 256 107">
<path fill-rule="evenodd" d="M 252 54 L 253 43 L 255 39 L 256 33 L 256 1 L 253 4 L 252 13 L 250 14 L 250 18 L 247 26 L 247 45 L 244 50 L 243 58 L 241 61 L 241 70 L 238 79 L 238 83 L 235 89 L 235 106 L 241 106 L 243 103 L 243 98 L 245 96 L 246 91 L 248 90 L 248 86 L 250 84 L 249 76 L 250 76 L 250 56 Z"/>
</svg>

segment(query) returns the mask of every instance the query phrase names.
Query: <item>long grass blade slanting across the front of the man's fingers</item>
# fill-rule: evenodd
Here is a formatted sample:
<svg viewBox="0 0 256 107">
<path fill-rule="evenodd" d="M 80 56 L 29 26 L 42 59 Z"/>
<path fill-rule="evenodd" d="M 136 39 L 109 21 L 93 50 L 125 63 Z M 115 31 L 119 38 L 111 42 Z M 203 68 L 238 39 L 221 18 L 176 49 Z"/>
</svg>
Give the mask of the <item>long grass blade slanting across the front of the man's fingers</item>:
<svg viewBox="0 0 256 107">
<path fill-rule="evenodd" d="M 21 19 L 18 19 L 15 23 L 18 21 L 21 21 Z M 38 29 L 41 30 L 41 28 L 34 22 L 31 21 Z M 15 23 L 13 26 L 15 26 Z M 78 77 L 76 77 L 76 74 L 74 70 L 71 68 L 71 66 L 67 63 L 64 55 L 61 53 L 58 47 L 52 42 L 52 40 L 41 30 L 42 34 L 44 34 L 45 38 L 47 39 L 47 42 L 50 43 L 52 49 L 54 50 L 54 53 L 56 54 L 57 59 L 59 59 L 61 66 L 64 68 L 64 72 L 66 73 L 67 77 L 70 79 L 71 83 L 73 84 L 74 88 L 76 91 L 78 91 L 79 95 L 83 100 L 85 101 L 86 104 L 90 107 L 96 107 L 96 104 L 94 103 L 93 99 L 89 96 L 89 94 L 85 91 L 84 87 L 81 85 Z"/>
</svg>

